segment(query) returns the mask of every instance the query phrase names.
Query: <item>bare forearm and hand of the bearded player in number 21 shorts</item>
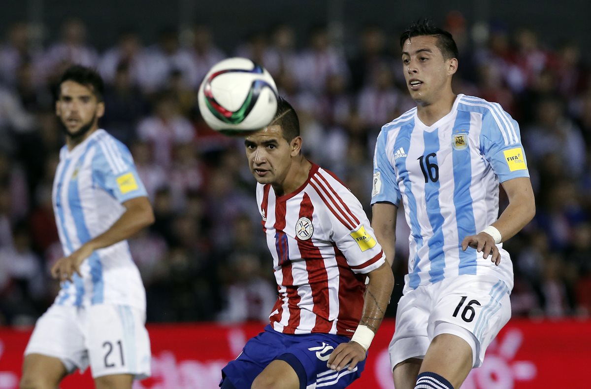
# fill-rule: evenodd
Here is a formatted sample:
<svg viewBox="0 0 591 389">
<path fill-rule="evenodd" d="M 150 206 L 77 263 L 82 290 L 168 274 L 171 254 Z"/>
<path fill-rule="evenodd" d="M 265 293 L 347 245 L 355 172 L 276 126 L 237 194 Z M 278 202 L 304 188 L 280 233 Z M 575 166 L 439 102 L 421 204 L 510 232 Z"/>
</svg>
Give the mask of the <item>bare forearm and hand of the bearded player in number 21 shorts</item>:
<svg viewBox="0 0 591 389">
<path fill-rule="evenodd" d="M 68 257 L 60 258 L 51 268 L 51 275 L 60 281 L 72 281 L 74 272 L 80 274 L 80 264 L 93 251 L 109 247 L 133 235 L 145 226 L 154 223 L 154 212 L 148 197 L 135 197 L 123 203 L 125 212 L 111 228 L 86 242 Z"/>
</svg>

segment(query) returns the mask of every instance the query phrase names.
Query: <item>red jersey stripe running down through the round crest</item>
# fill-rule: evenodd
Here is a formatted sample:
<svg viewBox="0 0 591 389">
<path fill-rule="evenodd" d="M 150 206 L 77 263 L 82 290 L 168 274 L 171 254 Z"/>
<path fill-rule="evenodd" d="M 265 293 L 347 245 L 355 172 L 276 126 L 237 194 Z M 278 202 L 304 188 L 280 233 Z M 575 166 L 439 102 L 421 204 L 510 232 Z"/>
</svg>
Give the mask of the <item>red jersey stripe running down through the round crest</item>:
<svg viewBox="0 0 591 389">
<path fill-rule="evenodd" d="M 314 205 L 310 196 L 304 193 L 300 203 L 300 218 L 308 218 L 314 222 L 312 215 Z M 306 270 L 308 272 L 308 283 L 312 292 L 312 301 L 314 305 L 312 312 L 316 315 L 316 324 L 312 332 L 329 333 L 332 328 L 330 322 L 330 299 L 329 299 L 329 278 L 324 266 L 324 258 L 320 250 L 314 246 L 311 239 L 301 240 L 297 238 L 297 245 L 300 249 L 301 258 L 306 260 Z"/>
</svg>

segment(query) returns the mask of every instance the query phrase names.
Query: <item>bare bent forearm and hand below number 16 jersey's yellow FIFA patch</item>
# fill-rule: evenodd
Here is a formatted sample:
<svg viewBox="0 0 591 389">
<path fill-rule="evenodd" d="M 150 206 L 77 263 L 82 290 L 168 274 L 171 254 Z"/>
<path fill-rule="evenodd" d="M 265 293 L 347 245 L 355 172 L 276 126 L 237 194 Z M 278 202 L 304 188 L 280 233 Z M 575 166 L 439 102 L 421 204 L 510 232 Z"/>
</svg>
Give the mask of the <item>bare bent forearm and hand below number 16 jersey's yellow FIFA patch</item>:
<svg viewBox="0 0 591 389">
<path fill-rule="evenodd" d="M 499 219 L 492 223 L 492 226 L 501 232 L 501 242 L 504 242 L 521 231 L 534 218 L 535 199 L 531 181 L 527 177 L 506 180 L 502 186 L 507 193 L 509 205 L 501 213 Z M 462 249 L 465 251 L 468 246 L 475 248 L 478 252 L 483 252 L 482 257 L 485 259 L 492 253 L 491 261 L 496 265 L 501 261 L 501 255 L 496 248 L 494 239 L 486 232 L 466 236 L 462 241 Z"/>
</svg>

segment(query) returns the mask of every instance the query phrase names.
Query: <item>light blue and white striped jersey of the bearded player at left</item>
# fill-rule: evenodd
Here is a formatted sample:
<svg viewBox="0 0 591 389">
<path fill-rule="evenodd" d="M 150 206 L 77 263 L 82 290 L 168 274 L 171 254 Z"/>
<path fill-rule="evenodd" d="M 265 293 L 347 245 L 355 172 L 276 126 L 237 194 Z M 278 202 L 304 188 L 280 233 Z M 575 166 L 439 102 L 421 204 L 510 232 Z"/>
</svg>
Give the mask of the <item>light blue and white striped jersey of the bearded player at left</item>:
<svg viewBox="0 0 591 389">
<path fill-rule="evenodd" d="M 70 255 L 121 217 L 121 204 L 147 196 L 131 153 L 98 129 L 69 151 L 60 150 L 53 182 L 53 208 L 61 247 Z M 127 241 L 93 252 L 80 266 L 82 277 L 61 284 L 56 304 L 115 303 L 145 310 L 145 290 Z"/>
</svg>

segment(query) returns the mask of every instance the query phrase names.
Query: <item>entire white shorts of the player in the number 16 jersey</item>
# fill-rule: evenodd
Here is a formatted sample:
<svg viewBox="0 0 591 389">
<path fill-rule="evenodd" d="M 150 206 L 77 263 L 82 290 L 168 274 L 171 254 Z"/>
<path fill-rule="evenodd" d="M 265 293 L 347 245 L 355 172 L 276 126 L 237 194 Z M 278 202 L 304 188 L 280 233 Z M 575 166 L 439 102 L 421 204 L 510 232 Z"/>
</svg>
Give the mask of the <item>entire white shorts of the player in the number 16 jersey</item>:
<svg viewBox="0 0 591 389">
<path fill-rule="evenodd" d="M 423 359 L 433 338 L 451 333 L 472 348 L 472 366 L 511 318 L 509 289 L 488 275 L 460 275 L 419 286 L 401 297 L 388 351 L 392 369 L 408 358 Z"/>
</svg>

